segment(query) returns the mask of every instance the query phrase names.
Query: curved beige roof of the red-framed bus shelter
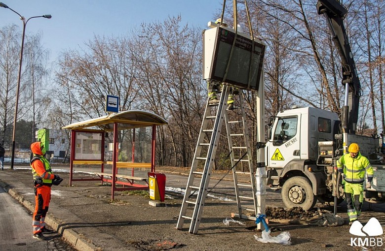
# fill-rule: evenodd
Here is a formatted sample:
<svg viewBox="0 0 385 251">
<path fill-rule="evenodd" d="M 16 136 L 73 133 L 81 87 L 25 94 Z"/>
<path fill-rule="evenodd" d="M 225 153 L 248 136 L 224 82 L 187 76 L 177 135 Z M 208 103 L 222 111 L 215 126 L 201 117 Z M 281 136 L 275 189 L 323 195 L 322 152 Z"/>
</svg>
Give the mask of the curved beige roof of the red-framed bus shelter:
<svg viewBox="0 0 385 251">
<path fill-rule="evenodd" d="M 118 129 L 122 130 L 147 126 L 166 125 L 168 122 L 151 112 L 142 110 L 130 110 L 109 114 L 96 119 L 76 122 L 71 125 L 64 126 L 62 129 L 93 129 L 96 126 L 104 131 L 113 131 L 114 123 L 118 123 Z"/>
</svg>

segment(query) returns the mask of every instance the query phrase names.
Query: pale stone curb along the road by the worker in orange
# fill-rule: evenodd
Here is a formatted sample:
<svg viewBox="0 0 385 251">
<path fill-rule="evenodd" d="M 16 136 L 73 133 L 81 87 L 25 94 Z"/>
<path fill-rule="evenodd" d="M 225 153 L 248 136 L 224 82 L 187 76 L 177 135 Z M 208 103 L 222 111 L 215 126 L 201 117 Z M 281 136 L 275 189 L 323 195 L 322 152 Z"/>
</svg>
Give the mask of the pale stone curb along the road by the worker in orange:
<svg viewBox="0 0 385 251">
<path fill-rule="evenodd" d="M 35 211 L 35 205 L 33 205 L 30 201 L 24 199 L 22 195 L 20 195 L 15 189 L 11 188 L 8 184 L 0 181 L 0 187 L 2 187 L 6 192 L 9 193 L 15 200 L 17 200 L 20 204 L 22 204 L 25 208 L 27 208 L 30 212 Z M 31 219 L 32 222 L 32 219 Z M 82 238 L 80 234 L 72 229 L 65 229 L 62 224 L 64 223 L 62 220 L 57 219 L 52 214 L 47 214 L 45 217 L 45 222 L 51 226 L 55 231 L 57 231 L 66 241 L 71 243 L 75 249 L 79 251 L 101 251 L 101 248 L 97 247 L 90 241 Z M 32 229 L 32 225 L 31 225 Z"/>
</svg>

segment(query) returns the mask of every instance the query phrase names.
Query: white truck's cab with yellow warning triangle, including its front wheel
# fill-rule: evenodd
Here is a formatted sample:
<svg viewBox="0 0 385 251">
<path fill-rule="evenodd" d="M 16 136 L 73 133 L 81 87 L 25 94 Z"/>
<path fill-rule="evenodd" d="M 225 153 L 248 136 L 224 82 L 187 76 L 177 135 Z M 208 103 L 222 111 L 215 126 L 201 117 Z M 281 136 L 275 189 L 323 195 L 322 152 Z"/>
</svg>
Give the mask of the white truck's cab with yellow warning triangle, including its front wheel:
<svg viewBox="0 0 385 251">
<path fill-rule="evenodd" d="M 325 167 L 318 166 L 318 142 L 333 141 L 338 115 L 313 107 L 294 108 L 270 118 L 265 159 L 267 184 L 282 188 L 287 207 L 312 208 L 327 193 Z"/>
</svg>

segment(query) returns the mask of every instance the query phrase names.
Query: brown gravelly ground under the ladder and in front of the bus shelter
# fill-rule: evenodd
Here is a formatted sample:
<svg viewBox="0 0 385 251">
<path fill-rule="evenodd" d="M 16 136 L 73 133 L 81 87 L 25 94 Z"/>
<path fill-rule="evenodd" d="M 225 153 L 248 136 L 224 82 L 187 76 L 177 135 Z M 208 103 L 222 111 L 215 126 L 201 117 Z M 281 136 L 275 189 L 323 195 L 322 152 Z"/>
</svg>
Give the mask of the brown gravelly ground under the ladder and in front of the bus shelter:
<svg viewBox="0 0 385 251">
<path fill-rule="evenodd" d="M 188 170 L 188 169 L 187 169 Z M 158 168 L 164 173 L 187 173 L 186 169 Z M 6 171 L 12 179 L 31 186 L 31 173 L 28 170 Z M 76 182 L 74 186 L 68 186 L 68 173 L 59 173 L 65 179 L 61 186 L 53 187 L 52 201 L 61 208 L 65 208 L 74 216 L 83 220 L 83 223 L 67 222 L 69 228 L 78 229 L 95 244 L 109 243 L 118 240 L 125 243 L 124 250 L 169 250 L 181 251 L 308 251 L 308 250 L 385 250 L 381 247 L 351 247 L 347 224 L 335 227 L 320 227 L 306 224 L 287 224 L 269 221 L 272 229 L 271 236 L 277 236 L 282 232 L 289 232 L 291 245 L 261 243 L 255 239 L 255 235 L 261 237 L 261 232 L 256 230 L 256 224 L 251 220 L 240 220 L 244 225 L 236 222 L 226 226 L 223 220 L 230 218 L 231 213 L 236 212 L 235 201 L 222 201 L 207 198 L 198 234 L 193 235 L 188 231 L 187 220 L 183 230 L 175 229 L 183 196 L 174 192 L 166 192 L 166 207 L 152 207 L 149 205 L 148 195 L 141 192 L 129 194 L 116 192 L 115 201 L 111 202 L 111 187 L 100 186 L 96 182 Z M 215 175 L 213 175 L 215 176 Z M 223 177 L 218 174 L 217 177 Z M 211 184 L 211 183 L 210 183 Z M 32 188 L 31 188 L 32 190 Z M 226 194 L 227 191 L 221 191 Z M 229 191 L 230 193 L 230 191 Z M 276 196 L 279 197 L 279 194 Z M 274 197 L 267 197 L 268 207 L 279 207 L 281 202 Z M 322 206 L 321 210 L 333 211 L 332 207 Z M 364 204 L 360 222 L 365 224 L 370 218 L 375 217 L 385 225 L 385 204 L 375 204 L 374 211 L 370 211 L 368 203 Z M 339 212 L 346 212 L 344 204 L 339 206 Z M 286 211 L 287 212 L 287 211 Z M 300 212 L 300 210 L 298 210 Z M 290 215 L 290 214 L 289 214 Z M 346 213 L 339 214 L 347 218 Z M 269 218 L 269 215 L 268 215 Z M 275 217 L 276 218 L 276 217 Z M 284 217 L 283 217 L 284 218 Z M 282 219 L 283 219 L 282 218 Z M 287 217 L 286 217 L 287 218 Z M 298 215 L 297 215 L 298 218 Z M 234 220 L 239 220 L 235 219 Z M 98 228 L 108 233 L 111 239 L 92 240 L 87 235 L 87 229 Z M 83 233 L 84 231 L 84 233 Z M 385 241 L 385 235 L 377 236 Z M 107 245 L 108 246 L 108 245 Z M 108 250 L 107 248 L 102 250 Z"/>
</svg>

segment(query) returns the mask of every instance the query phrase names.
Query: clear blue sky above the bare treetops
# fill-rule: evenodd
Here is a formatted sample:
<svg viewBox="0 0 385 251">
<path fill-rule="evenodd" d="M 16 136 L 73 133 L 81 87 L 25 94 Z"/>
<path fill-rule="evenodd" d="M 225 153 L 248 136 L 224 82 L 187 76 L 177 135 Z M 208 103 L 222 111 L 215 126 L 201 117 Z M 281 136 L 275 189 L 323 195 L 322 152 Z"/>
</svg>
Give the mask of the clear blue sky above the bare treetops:
<svg viewBox="0 0 385 251">
<path fill-rule="evenodd" d="M 0 0 L 26 19 L 50 14 L 51 19 L 34 18 L 26 34 L 41 32 L 42 45 L 51 51 L 55 62 L 66 49 L 84 48 L 95 35 L 117 37 L 141 23 L 162 22 L 168 16 L 181 15 L 182 22 L 207 29 L 222 11 L 223 0 Z M 22 31 L 19 16 L 0 7 L 0 28 L 16 24 Z M 20 34 L 21 43 L 21 34 Z"/>
</svg>

